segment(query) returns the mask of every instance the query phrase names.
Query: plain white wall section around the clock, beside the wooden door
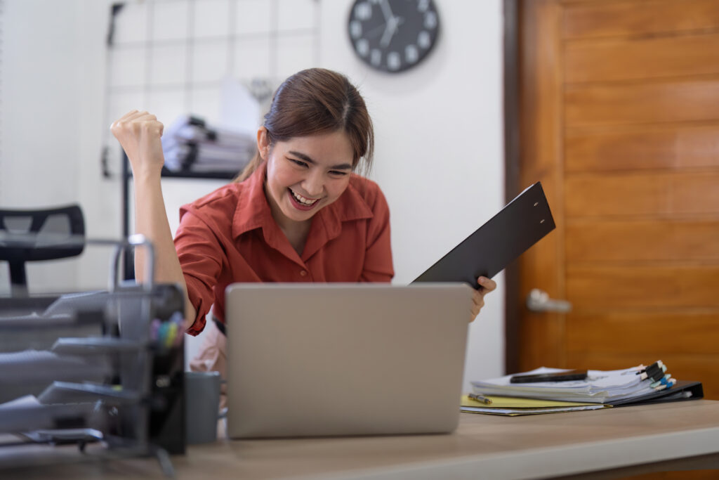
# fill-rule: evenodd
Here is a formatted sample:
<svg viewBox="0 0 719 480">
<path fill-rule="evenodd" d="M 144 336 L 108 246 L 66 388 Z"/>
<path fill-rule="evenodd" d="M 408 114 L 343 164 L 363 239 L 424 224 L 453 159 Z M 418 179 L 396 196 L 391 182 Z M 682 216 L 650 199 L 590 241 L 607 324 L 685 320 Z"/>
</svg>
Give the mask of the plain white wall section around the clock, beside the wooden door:
<svg viewBox="0 0 719 480">
<path fill-rule="evenodd" d="M 321 66 L 347 73 L 367 101 L 372 177 L 390 204 L 395 283 L 406 284 L 504 204 L 502 3 L 435 0 L 436 50 L 399 74 L 372 71 L 352 54 L 351 4 L 323 2 Z M 502 279 L 470 327 L 466 380 L 503 373 Z"/>
</svg>

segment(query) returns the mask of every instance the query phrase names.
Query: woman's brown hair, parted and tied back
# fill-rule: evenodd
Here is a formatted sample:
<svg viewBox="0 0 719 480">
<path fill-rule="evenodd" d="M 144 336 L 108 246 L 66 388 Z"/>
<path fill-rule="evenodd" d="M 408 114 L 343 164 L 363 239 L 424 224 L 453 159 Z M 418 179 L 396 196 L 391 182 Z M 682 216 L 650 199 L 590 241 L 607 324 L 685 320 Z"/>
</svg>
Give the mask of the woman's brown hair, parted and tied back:
<svg viewBox="0 0 719 480">
<path fill-rule="evenodd" d="M 357 170 L 363 161 L 362 171 L 367 173 L 372 166 L 375 150 L 372 119 L 365 100 L 342 73 L 308 68 L 290 76 L 275 91 L 263 126 L 267 129 L 270 146 L 293 137 L 342 130 L 347 133 L 354 150 L 352 168 Z M 261 163 L 262 157 L 257 152 L 234 181 L 243 181 Z"/>
</svg>

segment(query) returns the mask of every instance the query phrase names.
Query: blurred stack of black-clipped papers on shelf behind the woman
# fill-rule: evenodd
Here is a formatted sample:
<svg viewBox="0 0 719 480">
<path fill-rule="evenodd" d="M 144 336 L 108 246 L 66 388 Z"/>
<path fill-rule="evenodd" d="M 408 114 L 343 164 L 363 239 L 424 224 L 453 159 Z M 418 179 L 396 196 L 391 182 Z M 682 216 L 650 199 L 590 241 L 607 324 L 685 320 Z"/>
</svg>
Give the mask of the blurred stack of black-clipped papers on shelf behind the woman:
<svg viewBox="0 0 719 480">
<path fill-rule="evenodd" d="M 239 172 L 256 149 L 252 135 L 210 127 L 188 115 L 176 119 L 162 135 L 165 167 L 176 172 Z"/>
</svg>

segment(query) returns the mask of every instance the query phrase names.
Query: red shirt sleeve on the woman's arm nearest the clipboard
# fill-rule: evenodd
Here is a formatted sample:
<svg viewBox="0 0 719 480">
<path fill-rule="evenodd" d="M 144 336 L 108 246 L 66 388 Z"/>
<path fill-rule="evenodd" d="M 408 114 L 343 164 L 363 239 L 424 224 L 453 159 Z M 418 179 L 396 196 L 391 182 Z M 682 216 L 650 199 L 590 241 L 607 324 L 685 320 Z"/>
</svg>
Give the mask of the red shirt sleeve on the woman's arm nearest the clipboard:
<svg viewBox="0 0 719 480">
<path fill-rule="evenodd" d="M 379 188 L 372 205 L 372 213 L 374 215 L 367 225 L 365 265 L 362 267 L 359 281 L 389 282 L 395 276 L 390 242 L 390 207 Z"/>
</svg>

